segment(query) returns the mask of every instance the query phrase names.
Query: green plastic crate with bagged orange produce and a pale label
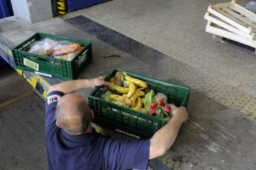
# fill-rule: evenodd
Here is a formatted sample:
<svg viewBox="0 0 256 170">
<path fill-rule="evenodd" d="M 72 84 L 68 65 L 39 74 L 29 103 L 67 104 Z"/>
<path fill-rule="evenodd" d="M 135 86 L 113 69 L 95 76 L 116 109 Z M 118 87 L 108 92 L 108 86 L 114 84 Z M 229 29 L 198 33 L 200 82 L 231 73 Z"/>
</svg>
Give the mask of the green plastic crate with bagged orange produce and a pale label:
<svg viewBox="0 0 256 170">
<path fill-rule="evenodd" d="M 45 38 L 78 43 L 84 48 L 80 50 L 80 52 L 76 54 L 71 61 L 28 53 L 32 42 L 43 40 Z M 29 39 L 20 43 L 18 46 L 14 47 L 12 49 L 12 54 L 15 60 L 16 69 L 31 72 L 36 71 L 36 73 L 41 73 L 43 75 L 48 75 L 50 77 L 60 78 L 63 80 L 73 80 L 79 75 L 84 67 L 92 62 L 92 43 L 85 40 L 65 38 L 38 32 Z M 24 61 L 28 62 L 29 66 L 25 66 Z M 37 66 L 38 70 L 34 69 Z"/>
</svg>

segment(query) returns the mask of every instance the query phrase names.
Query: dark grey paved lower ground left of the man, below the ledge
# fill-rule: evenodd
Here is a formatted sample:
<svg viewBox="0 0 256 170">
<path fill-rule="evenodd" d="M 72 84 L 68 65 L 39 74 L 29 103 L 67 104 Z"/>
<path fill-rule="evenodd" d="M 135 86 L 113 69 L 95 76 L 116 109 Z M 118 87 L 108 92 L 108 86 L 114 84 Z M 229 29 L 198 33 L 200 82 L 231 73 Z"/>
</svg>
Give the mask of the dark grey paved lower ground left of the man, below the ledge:
<svg viewBox="0 0 256 170">
<path fill-rule="evenodd" d="M 11 66 L 0 67 L 1 104 L 32 90 Z M 47 170 L 44 100 L 36 93 L 0 108 L 0 170 Z"/>
</svg>

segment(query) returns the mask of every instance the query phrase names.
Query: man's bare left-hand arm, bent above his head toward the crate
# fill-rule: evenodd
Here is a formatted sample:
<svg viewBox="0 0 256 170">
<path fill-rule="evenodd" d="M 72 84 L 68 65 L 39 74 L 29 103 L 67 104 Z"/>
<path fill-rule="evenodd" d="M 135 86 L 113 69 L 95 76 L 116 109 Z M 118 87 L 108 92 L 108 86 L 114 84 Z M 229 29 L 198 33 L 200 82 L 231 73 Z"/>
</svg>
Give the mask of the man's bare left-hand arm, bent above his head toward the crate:
<svg viewBox="0 0 256 170">
<path fill-rule="evenodd" d="M 92 78 L 92 79 L 65 81 L 60 84 L 52 85 L 48 93 L 52 91 L 60 91 L 64 94 L 68 94 L 68 93 L 73 93 L 89 87 L 95 88 L 96 86 L 110 85 L 110 83 L 104 81 L 104 79 L 105 79 L 105 76 Z"/>
</svg>

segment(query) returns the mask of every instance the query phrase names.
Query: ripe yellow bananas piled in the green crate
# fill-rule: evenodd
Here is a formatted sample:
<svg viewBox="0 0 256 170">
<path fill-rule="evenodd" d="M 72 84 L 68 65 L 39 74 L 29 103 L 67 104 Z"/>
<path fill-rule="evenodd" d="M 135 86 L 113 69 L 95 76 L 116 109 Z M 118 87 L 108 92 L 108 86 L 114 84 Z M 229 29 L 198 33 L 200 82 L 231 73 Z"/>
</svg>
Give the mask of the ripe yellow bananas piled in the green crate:
<svg viewBox="0 0 256 170">
<path fill-rule="evenodd" d="M 145 93 L 142 91 L 147 88 L 148 85 L 142 80 L 130 77 L 128 75 L 124 76 L 124 83 L 128 85 L 128 87 L 122 87 L 120 85 L 114 85 L 114 89 L 122 93 L 122 95 L 111 94 L 109 98 L 113 100 L 118 100 L 124 102 L 128 107 L 133 110 L 140 110 L 142 108 L 142 100 L 141 97 L 144 97 Z M 140 88 L 137 88 L 137 87 Z"/>
</svg>

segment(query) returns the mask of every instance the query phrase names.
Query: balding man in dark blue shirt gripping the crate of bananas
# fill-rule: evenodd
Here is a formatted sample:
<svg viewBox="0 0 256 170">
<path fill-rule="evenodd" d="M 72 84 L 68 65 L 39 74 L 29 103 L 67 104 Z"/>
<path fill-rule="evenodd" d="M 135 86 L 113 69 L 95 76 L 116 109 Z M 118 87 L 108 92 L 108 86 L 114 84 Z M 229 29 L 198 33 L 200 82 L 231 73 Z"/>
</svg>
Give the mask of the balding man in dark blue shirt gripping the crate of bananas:
<svg viewBox="0 0 256 170">
<path fill-rule="evenodd" d="M 49 170 L 146 170 L 148 160 L 163 155 L 188 119 L 186 108 L 176 108 L 172 119 L 151 139 L 113 139 L 92 131 L 93 111 L 76 92 L 109 85 L 104 76 L 72 80 L 49 89 L 45 130 Z"/>
</svg>

